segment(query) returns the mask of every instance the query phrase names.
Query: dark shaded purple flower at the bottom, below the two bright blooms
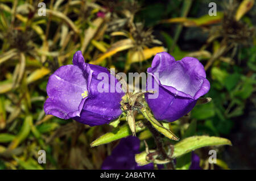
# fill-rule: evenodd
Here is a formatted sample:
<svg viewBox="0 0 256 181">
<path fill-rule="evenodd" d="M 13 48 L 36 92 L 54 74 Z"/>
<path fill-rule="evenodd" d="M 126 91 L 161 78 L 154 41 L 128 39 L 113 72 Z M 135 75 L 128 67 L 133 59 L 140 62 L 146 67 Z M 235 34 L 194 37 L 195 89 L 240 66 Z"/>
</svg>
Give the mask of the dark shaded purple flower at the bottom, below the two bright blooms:
<svg viewBox="0 0 256 181">
<path fill-rule="evenodd" d="M 102 163 L 103 170 L 142 170 L 154 169 L 154 164 L 149 163 L 138 166 L 135 162 L 135 154 L 139 153 L 140 140 L 135 136 L 123 138 L 113 149 L 112 154 Z"/>
</svg>

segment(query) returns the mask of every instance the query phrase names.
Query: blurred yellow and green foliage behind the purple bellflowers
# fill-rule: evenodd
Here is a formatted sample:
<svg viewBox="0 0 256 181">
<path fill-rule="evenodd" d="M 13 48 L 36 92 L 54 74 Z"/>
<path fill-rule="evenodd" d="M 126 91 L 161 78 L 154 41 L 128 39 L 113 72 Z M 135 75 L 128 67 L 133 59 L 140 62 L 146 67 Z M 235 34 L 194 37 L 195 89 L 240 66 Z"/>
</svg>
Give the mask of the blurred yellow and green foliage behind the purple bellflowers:
<svg viewBox="0 0 256 181">
<path fill-rule="evenodd" d="M 46 3 L 46 16 L 38 14 L 40 2 Z M 210 2 L 217 5 L 216 16 L 208 15 Z M 196 150 L 204 169 L 255 169 L 255 10 L 254 0 L 1 0 L 0 169 L 100 169 L 118 144 L 90 148 L 113 127 L 44 113 L 49 75 L 72 64 L 76 50 L 90 64 L 125 73 L 145 72 L 157 52 L 176 60 L 198 58 L 212 102 L 171 123 L 172 131 L 181 139 L 209 135 L 232 141 L 233 146 Z M 147 130 L 137 136 L 154 147 Z M 41 149 L 46 164 L 38 164 Z M 208 163 L 210 149 L 218 150 L 215 165 Z M 177 167 L 184 166 L 178 161 Z"/>
</svg>

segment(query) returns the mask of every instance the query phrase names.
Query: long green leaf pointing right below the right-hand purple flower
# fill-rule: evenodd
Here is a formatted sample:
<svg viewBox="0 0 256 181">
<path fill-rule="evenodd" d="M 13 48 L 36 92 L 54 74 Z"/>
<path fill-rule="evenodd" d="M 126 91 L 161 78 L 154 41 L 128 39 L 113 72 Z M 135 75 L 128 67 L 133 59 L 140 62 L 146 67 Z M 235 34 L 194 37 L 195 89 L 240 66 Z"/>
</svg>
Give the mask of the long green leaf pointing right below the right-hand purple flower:
<svg viewBox="0 0 256 181">
<path fill-rule="evenodd" d="M 226 138 L 214 136 L 192 136 L 185 138 L 174 145 L 173 158 L 180 157 L 183 154 L 189 153 L 195 149 L 204 146 L 232 145 L 231 141 Z"/>
</svg>

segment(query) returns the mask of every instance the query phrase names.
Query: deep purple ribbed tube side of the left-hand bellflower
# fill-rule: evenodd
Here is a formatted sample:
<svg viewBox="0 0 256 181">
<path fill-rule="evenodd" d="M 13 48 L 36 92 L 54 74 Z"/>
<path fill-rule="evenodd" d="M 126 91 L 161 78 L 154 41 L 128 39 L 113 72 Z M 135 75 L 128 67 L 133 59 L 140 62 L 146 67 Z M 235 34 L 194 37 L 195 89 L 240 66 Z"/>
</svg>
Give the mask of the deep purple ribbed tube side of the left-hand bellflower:
<svg viewBox="0 0 256 181">
<path fill-rule="evenodd" d="M 111 120 L 117 119 L 121 113 L 121 100 L 125 93 L 110 92 L 110 89 L 115 89 L 115 85 L 118 80 L 113 75 L 110 75 L 108 69 L 97 65 L 87 64 L 88 69 L 93 72 L 90 82 L 90 96 L 84 104 L 84 108 L 80 117 L 76 117 L 75 120 L 88 124 L 90 126 L 108 124 Z M 106 73 L 108 80 L 104 78 L 98 79 L 98 74 Z M 110 81 L 110 76 L 113 78 L 113 82 Z M 109 85 L 109 92 L 99 92 L 98 83 L 104 81 Z"/>
</svg>

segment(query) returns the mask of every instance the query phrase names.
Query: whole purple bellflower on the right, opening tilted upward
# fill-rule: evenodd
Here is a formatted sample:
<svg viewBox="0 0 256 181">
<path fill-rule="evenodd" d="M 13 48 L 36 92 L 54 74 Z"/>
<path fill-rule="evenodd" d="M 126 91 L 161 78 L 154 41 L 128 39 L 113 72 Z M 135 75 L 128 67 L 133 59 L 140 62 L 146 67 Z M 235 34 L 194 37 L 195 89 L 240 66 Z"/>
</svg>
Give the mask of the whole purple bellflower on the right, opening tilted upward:
<svg viewBox="0 0 256 181">
<path fill-rule="evenodd" d="M 187 114 L 196 105 L 200 96 L 207 94 L 210 83 L 204 66 L 193 57 L 175 61 L 166 52 L 157 53 L 147 73 L 152 75 L 152 85 L 159 83 L 158 98 L 148 99 L 148 106 L 158 120 L 175 121 Z M 159 78 L 154 77 L 159 74 Z M 147 80 L 151 81 L 151 80 Z"/>
</svg>

